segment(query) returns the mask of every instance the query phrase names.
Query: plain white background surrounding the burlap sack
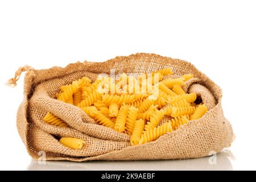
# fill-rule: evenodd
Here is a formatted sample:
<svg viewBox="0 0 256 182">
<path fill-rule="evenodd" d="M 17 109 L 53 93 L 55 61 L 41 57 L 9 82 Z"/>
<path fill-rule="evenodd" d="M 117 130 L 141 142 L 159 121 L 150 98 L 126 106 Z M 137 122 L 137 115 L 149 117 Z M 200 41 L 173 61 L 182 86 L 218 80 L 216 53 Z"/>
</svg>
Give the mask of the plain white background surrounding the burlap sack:
<svg viewBox="0 0 256 182">
<path fill-rule="evenodd" d="M 255 1 L 1 1 L 0 169 L 256 169 Z M 209 158 L 148 162 L 49 162 L 38 165 L 16 130 L 23 100 L 5 82 L 22 65 L 64 67 L 136 52 L 190 61 L 223 89 L 237 138 Z M 211 159 L 210 159 L 211 160 Z"/>
</svg>

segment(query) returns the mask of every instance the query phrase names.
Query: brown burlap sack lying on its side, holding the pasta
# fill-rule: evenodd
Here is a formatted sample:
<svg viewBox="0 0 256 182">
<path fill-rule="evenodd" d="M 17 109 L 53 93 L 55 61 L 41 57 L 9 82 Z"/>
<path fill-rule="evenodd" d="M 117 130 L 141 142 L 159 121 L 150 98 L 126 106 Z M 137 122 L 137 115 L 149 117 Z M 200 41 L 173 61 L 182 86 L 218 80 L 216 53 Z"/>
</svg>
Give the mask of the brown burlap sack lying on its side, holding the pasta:
<svg viewBox="0 0 256 182">
<path fill-rule="evenodd" d="M 110 74 L 110 69 L 119 73 L 151 73 L 171 67 L 174 76 L 191 73 L 195 78 L 184 85 L 185 92 L 196 92 L 209 111 L 196 121 L 172 133 L 167 133 L 154 142 L 130 146 L 129 135 L 98 125 L 79 107 L 58 101 L 55 94 L 60 86 L 70 84 L 82 76 L 95 81 L 100 73 Z M 20 74 L 24 77 L 24 100 L 17 113 L 17 127 L 28 153 L 39 159 L 40 151 L 46 152 L 46 160 L 151 160 L 200 158 L 220 152 L 229 147 L 234 134 L 221 107 L 221 89 L 191 63 L 152 53 L 137 53 L 118 56 L 104 63 L 69 64 L 65 68 L 53 67 L 37 70 L 20 68 L 9 84 L 16 85 Z M 69 127 L 48 125 L 42 120 L 47 112 L 63 119 Z M 164 118 L 161 123 L 167 121 Z M 85 141 L 81 150 L 73 150 L 59 143 L 57 138 L 75 137 Z"/>
</svg>

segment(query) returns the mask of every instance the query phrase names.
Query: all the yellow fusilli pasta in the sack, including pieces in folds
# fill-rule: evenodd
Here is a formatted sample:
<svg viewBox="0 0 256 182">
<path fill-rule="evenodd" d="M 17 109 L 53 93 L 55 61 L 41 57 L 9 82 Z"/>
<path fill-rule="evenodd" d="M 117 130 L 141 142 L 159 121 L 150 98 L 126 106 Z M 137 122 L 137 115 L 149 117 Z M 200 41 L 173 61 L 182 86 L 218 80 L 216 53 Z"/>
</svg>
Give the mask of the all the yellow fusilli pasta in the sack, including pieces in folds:
<svg viewBox="0 0 256 182">
<path fill-rule="evenodd" d="M 82 77 L 61 86 L 56 98 L 80 107 L 98 124 L 130 135 L 131 145 L 144 144 L 207 112 L 206 105 L 195 103 L 196 93 L 183 90 L 185 81 L 193 75 L 178 78 L 170 75 L 173 75 L 171 68 L 166 68 L 149 75 L 98 76 L 94 82 Z M 47 113 L 43 120 L 49 125 L 69 127 L 52 113 Z M 84 145 L 84 141 L 77 138 L 63 137 L 60 143 L 76 150 Z"/>
</svg>

